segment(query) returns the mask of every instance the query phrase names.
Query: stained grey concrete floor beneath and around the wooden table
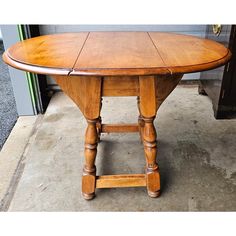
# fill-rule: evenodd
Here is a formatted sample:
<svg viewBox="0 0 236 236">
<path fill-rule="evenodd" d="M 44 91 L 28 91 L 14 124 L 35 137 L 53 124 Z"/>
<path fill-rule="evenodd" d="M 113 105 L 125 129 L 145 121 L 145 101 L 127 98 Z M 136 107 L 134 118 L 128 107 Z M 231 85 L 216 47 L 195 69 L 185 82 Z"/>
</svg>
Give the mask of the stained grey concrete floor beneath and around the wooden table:
<svg viewBox="0 0 236 236">
<path fill-rule="evenodd" d="M 110 123 L 133 122 L 136 99 L 105 98 L 102 117 Z M 99 189 L 94 200 L 85 201 L 81 173 L 86 123 L 70 99 L 57 93 L 37 123 L 20 160 L 24 168 L 16 171 L 18 182 L 2 210 L 235 211 L 236 120 L 215 120 L 211 102 L 198 95 L 196 86 L 178 86 L 160 108 L 155 125 L 161 196 L 152 199 L 145 188 Z M 96 165 L 99 175 L 143 173 L 138 135 L 102 135 Z"/>
</svg>

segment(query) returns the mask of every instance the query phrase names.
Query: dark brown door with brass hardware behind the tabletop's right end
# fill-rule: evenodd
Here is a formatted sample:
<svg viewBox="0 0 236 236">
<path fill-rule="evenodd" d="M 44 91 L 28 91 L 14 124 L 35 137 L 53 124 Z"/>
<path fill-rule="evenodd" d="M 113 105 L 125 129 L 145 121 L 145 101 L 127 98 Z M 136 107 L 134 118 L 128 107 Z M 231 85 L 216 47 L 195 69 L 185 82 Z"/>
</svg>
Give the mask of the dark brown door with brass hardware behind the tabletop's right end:
<svg viewBox="0 0 236 236">
<path fill-rule="evenodd" d="M 222 119 L 232 118 L 236 114 L 236 27 L 235 25 L 222 25 L 218 28 L 217 32 L 217 30 L 213 30 L 213 25 L 209 25 L 206 30 L 206 38 L 224 44 L 233 55 L 225 66 L 201 73 L 199 93 L 209 96 L 215 118 Z"/>
</svg>

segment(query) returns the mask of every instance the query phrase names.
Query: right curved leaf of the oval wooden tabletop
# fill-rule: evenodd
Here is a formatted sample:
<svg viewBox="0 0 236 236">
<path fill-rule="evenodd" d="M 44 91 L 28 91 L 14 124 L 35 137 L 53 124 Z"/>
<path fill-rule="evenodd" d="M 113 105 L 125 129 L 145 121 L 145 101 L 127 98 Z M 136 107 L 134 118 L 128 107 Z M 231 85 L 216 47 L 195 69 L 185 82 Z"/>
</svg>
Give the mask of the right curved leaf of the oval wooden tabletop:
<svg viewBox="0 0 236 236">
<path fill-rule="evenodd" d="M 229 50 L 215 41 L 189 35 L 149 33 L 171 73 L 189 73 L 222 65 Z"/>
</svg>

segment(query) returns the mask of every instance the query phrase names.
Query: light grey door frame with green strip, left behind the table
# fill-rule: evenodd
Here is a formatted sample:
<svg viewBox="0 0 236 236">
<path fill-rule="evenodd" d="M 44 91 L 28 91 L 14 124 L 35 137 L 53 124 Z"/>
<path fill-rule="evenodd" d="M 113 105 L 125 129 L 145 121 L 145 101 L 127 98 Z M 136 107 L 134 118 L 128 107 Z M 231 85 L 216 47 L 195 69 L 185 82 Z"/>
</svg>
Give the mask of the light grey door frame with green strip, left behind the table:
<svg viewBox="0 0 236 236">
<path fill-rule="evenodd" d="M 0 25 L 5 50 L 31 37 L 27 25 Z M 19 116 L 43 113 L 42 99 L 36 74 L 8 66 Z"/>
</svg>

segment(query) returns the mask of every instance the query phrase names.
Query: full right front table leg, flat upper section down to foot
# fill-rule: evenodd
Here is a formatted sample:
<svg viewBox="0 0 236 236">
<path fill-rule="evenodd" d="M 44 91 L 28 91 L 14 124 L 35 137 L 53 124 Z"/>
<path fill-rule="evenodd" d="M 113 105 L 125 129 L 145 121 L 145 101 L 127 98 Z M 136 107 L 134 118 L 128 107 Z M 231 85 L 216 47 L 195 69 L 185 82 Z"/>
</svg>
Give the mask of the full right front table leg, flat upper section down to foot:
<svg viewBox="0 0 236 236">
<path fill-rule="evenodd" d="M 157 90 L 155 76 L 140 76 L 140 114 L 143 128 L 142 139 L 146 158 L 146 184 L 150 197 L 160 194 L 160 174 L 156 162 L 157 143 L 153 121 L 157 112 Z"/>
</svg>

